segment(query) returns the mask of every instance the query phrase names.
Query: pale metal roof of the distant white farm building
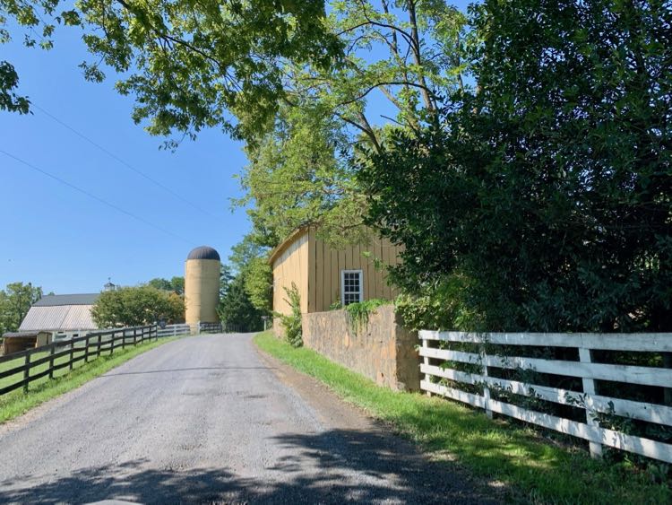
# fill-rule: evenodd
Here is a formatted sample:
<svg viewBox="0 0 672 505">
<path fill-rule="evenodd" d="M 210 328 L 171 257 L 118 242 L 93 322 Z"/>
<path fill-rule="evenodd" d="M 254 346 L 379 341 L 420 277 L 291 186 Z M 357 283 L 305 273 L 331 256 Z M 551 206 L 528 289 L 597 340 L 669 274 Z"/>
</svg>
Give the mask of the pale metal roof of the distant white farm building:
<svg viewBox="0 0 672 505">
<path fill-rule="evenodd" d="M 30 307 L 19 331 L 94 330 L 98 326 L 91 318 L 92 305 L 50 305 Z"/>
</svg>

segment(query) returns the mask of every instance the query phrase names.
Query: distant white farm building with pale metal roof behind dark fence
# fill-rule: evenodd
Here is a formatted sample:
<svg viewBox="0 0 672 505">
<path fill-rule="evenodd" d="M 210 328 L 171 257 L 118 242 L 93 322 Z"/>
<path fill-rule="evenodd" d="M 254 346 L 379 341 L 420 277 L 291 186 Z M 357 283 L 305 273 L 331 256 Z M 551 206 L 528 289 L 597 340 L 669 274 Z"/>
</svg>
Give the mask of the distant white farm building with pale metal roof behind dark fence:
<svg viewBox="0 0 672 505">
<path fill-rule="evenodd" d="M 99 293 L 47 295 L 30 307 L 19 332 L 47 331 L 59 340 L 98 329 L 91 318 L 98 297 Z"/>
</svg>

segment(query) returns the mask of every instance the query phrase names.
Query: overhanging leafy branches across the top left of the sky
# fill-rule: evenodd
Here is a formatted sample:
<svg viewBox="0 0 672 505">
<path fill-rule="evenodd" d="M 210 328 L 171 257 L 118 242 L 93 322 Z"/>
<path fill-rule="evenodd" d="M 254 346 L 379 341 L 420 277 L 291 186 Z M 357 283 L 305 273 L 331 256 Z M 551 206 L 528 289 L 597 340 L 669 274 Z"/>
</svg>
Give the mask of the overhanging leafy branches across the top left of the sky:
<svg viewBox="0 0 672 505">
<path fill-rule="evenodd" d="M 0 0 L 0 43 L 7 19 L 26 28 L 26 43 L 53 45 L 57 24 L 82 28 L 93 55 L 92 81 L 106 67 L 133 94 L 134 120 L 154 135 L 195 135 L 222 126 L 246 137 L 267 123 L 282 96 L 284 65 L 332 65 L 340 42 L 325 30 L 315 0 Z M 26 110 L 12 94 L 17 76 L 0 62 L 0 107 Z M 235 119 L 232 117 L 235 116 Z"/>
</svg>

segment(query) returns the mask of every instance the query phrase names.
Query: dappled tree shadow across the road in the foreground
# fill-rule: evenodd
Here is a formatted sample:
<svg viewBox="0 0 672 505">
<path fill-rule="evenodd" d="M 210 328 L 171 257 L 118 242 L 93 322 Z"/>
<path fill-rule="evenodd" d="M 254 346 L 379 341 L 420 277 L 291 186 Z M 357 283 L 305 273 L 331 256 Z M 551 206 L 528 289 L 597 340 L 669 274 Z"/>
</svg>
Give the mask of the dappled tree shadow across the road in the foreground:
<svg viewBox="0 0 672 505">
<path fill-rule="evenodd" d="M 324 431 L 281 435 L 269 442 L 290 456 L 247 472 L 263 474 L 255 477 L 226 467 L 184 470 L 191 465 L 176 450 L 174 463 L 164 462 L 162 469 L 152 468 L 159 464 L 151 459 L 137 459 L 66 475 L 4 480 L 0 502 L 496 503 L 508 494 L 453 466 L 390 448 L 389 438 L 381 434 Z"/>
</svg>

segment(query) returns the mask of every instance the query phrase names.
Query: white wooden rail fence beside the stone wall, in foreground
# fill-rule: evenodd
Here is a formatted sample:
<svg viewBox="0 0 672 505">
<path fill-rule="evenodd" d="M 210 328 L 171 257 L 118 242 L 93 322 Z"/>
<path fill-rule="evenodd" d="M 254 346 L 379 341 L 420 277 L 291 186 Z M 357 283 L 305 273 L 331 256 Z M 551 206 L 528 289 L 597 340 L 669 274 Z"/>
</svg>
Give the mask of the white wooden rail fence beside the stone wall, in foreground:
<svg viewBox="0 0 672 505">
<path fill-rule="evenodd" d="M 420 387 L 427 394 L 447 396 L 485 409 L 488 415 L 504 414 L 588 440 L 593 456 L 601 454 L 602 446 L 609 446 L 672 463 L 671 444 L 628 435 L 621 431 L 607 430 L 601 428 L 595 421 L 596 414 L 616 414 L 626 418 L 672 426 L 672 407 L 670 406 L 595 394 L 595 379 L 643 386 L 672 387 L 672 369 L 591 361 L 591 351 L 594 350 L 672 353 L 672 334 L 473 334 L 420 331 L 419 338 L 422 340 L 420 356 L 423 358 L 420 371 L 425 374 Z M 464 353 L 441 349 L 439 348 L 441 342 L 480 344 L 478 345 L 480 352 Z M 487 354 L 485 349 L 492 346 L 485 344 L 573 347 L 579 351 L 579 361 Z M 448 365 L 451 361 L 479 365 L 480 373 L 467 373 L 450 368 Z M 489 377 L 488 368 L 534 370 L 579 378 L 582 379 L 583 392 Z M 435 379 L 432 380 L 432 378 Z M 441 384 L 440 379 L 449 379 L 450 383 Z M 481 386 L 483 395 L 461 390 L 458 388 L 461 384 Z M 581 406 L 586 411 L 587 421 L 577 422 L 497 401 L 491 398 L 491 388 L 503 389 L 515 395 L 535 397 L 556 404 Z"/>
</svg>

